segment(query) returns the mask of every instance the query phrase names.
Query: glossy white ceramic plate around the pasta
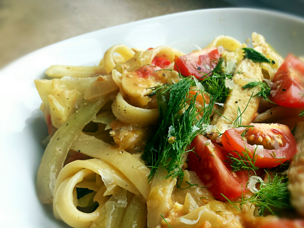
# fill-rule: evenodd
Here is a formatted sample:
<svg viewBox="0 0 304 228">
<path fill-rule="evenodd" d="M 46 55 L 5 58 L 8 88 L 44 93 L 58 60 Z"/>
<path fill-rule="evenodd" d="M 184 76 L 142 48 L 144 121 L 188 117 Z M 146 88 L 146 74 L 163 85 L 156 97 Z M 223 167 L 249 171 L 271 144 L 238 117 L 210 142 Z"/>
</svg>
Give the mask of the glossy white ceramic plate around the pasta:
<svg viewBox="0 0 304 228">
<path fill-rule="evenodd" d="M 304 20 L 256 9 L 208 9 L 132 22 L 37 50 L 0 71 L 0 227 L 68 227 L 36 198 L 36 173 L 47 127 L 33 80 L 50 65 L 97 65 L 114 44 L 147 49 L 168 45 L 185 53 L 219 35 L 241 42 L 261 33 L 285 57 L 304 55 Z"/>
</svg>

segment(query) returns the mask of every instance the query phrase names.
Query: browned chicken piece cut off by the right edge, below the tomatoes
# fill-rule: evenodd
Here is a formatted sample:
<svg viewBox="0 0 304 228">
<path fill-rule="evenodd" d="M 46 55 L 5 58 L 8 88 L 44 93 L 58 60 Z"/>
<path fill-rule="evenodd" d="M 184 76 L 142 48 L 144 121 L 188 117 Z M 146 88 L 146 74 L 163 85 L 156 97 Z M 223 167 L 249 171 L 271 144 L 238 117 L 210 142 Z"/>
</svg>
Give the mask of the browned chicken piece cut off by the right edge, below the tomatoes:
<svg viewBox="0 0 304 228">
<path fill-rule="evenodd" d="M 290 161 L 288 170 L 290 202 L 304 216 L 304 122 L 298 122 L 295 127 L 295 140 L 298 152 Z"/>
</svg>

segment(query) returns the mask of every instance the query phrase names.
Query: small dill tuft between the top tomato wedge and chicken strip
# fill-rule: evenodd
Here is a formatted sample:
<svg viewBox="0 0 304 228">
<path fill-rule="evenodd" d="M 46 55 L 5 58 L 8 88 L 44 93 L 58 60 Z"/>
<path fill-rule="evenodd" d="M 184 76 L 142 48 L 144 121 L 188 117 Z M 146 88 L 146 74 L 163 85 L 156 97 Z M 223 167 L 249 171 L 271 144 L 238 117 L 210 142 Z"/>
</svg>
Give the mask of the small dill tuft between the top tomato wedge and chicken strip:
<svg viewBox="0 0 304 228">
<path fill-rule="evenodd" d="M 225 86 L 226 78 L 231 79 L 232 75 L 213 73 L 212 76 L 204 78 L 201 82 L 206 92 L 211 96 L 217 94 L 217 101 L 220 103 L 225 102 L 231 90 Z"/>
</svg>

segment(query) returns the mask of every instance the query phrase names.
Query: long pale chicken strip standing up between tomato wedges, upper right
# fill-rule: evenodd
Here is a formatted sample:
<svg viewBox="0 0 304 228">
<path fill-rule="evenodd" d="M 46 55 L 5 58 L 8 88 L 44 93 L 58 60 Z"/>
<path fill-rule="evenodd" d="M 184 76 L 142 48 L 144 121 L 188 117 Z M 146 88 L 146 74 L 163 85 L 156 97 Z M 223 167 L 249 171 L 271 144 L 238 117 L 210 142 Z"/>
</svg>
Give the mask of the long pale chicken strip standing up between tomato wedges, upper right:
<svg viewBox="0 0 304 228">
<path fill-rule="evenodd" d="M 233 81 L 226 84 L 232 91 L 226 99 L 223 113 L 221 115 L 216 114 L 213 117 L 211 122 L 213 126 L 211 133 L 209 132 L 209 138 L 215 138 L 220 133 L 224 133 L 225 130 L 237 127 L 237 125 L 233 124 L 237 119 L 239 124 L 245 126 L 255 119 L 260 98 L 254 95 L 260 91 L 260 88 L 243 89 L 242 87 L 253 81 L 262 81 L 265 77 L 268 77 L 268 79 L 273 77 L 277 68 L 282 64 L 282 57 L 271 50 L 263 36 L 252 33 L 252 40 L 255 50 L 268 54 L 267 57 L 272 58 L 276 63 L 270 66 L 266 63 L 255 63 L 247 58 L 238 63 L 233 74 Z M 267 70 L 265 70 L 266 68 Z M 268 72 L 270 76 L 267 76 Z M 239 112 L 238 109 L 240 110 Z"/>
</svg>

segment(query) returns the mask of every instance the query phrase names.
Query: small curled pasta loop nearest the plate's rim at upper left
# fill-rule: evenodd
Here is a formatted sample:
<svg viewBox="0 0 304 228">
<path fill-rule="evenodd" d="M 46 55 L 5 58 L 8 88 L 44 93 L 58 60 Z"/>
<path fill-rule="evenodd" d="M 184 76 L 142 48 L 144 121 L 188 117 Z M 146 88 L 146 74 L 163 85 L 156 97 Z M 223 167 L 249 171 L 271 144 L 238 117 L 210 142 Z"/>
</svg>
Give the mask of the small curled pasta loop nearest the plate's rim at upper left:
<svg viewBox="0 0 304 228">
<path fill-rule="evenodd" d="M 113 47 L 110 47 L 103 56 L 103 64 L 107 73 L 110 73 L 114 69 L 117 63 L 115 61 L 116 59 L 114 53 L 120 54 L 125 61 L 128 61 L 129 59 L 133 58 L 135 54 L 135 52 L 131 48 L 123 44 L 117 44 L 114 45 Z"/>
</svg>

